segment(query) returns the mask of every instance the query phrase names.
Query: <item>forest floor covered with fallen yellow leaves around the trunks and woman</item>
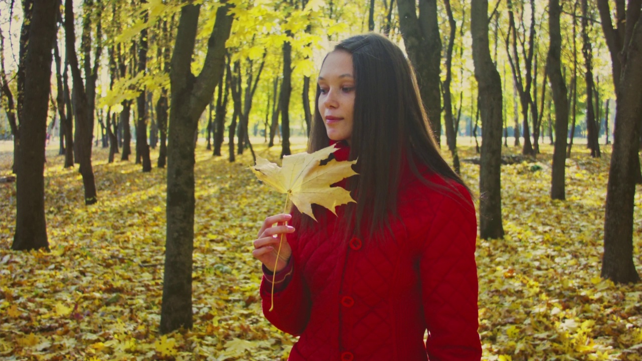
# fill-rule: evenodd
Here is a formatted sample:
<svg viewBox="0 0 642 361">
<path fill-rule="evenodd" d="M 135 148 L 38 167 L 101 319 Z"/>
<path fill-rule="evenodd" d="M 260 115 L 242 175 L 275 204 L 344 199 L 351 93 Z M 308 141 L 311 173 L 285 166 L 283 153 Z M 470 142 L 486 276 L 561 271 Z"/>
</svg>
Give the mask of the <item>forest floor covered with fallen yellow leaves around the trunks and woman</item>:
<svg viewBox="0 0 642 361">
<path fill-rule="evenodd" d="M 260 143 L 260 142 L 259 142 Z M 257 143 L 277 159 L 280 146 Z M 475 157 L 468 139 L 460 158 Z M 548 141 L 546 141 L 548 143 Z M 509 143 L 510 144 L 510 143 Z M 445 148 L 445 146 L 444 146 Z M 600 278 L 610 146 L 591 159 L 575 146 L 565 201 L 551 201 L 551 154 L 501 167 L 503 240 L 478 240 L 484 360 L 642 360 L 642 283 Z M 293 152 L 304 149 L 296 143 Z M 11 150 L 11 148 L 9 148 Z M 225 145 L 227 150 L 227 145 Z M 504 148 L 507 155 L 519 148 Z M 449 159 L 449 152 L 444 150 Z M 98 204 L 84 206 L 78 168 L 48 150 L 46 218 L 51 252 L 10 251 L 15 182 L 0 184 L 0 358 L 3 360 L 277 360 L 294 337 L 261 314 L 261 269 L 251 241 L 283 197 L 259 184 L 249 152 L 229 163 L 196 150 L 194 327 L 158 333 L 166 171 L 107 164 L 94 150 Z M 0 157 L 0 177 L 11 157 Z M 152 151 L 155 164 L 157 151 Z M 134 159 L 132 155 L 130 159 Z M 479 167 L 462 163 L 478 193 Z M 634 262 L 642 271 L 642 188 Z"/>
</svg>

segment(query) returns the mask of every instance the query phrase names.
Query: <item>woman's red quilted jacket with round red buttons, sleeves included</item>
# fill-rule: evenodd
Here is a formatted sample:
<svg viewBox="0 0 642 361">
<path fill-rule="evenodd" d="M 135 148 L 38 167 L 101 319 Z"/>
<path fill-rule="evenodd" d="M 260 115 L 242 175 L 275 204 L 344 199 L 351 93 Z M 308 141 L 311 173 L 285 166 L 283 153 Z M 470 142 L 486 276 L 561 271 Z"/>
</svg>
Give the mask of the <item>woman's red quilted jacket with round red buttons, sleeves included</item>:
<svg viewBox="0 0 642 361">
<path fill-rule="evenodd" d="M 347 152 L 335 156 L 345 160 Z M 394 237 L 383 244 L 346 242 L 335 230 L 343 207 L 317 217 L 318 229 L 288 234 L 292 256 L 275 277 L 272 312 L 265 267 L 261 297 L 265 317 L 300 336 L 289 360 L 480 360 L 477 224 L 467 191 L 456 188 L 465 200 L 405 172 L 397 198 L 403 223 L 392 222 Z"/>
</svg>

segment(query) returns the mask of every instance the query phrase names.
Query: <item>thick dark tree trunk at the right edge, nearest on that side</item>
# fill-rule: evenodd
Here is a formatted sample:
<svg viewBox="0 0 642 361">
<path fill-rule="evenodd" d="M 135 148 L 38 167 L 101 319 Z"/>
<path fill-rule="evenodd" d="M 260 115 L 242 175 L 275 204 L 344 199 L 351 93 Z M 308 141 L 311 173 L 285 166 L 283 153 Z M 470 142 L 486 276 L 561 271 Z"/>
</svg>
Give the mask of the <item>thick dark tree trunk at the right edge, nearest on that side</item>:
<svg viewBox="0 0 642 361">
<path fill-rule="evenodd" d="M 606 4 L 604 4 L 606 3 Z M 600 15 L 602 7 L 608 9 L 605 0 L 598 0 Z M 636 178 L 639 176 L 639 131 L 642 114 L 642 19 L 639 1 L 629 1 L 626 22 L 618 24 L 623 30 L 624 42 L 621 53 L 621 74 L 616 76 L 615 132 L 609 183 L 607 185 L 604 217 L 604 256 L 602 277 L 615 283 L 638 282 L 639 275 L 633 261 L 634 197 Z M 621 9 L 618 10 L 618 15 Z M 610 11 L 609 11 L 610 14 Z M 605 26 L 607 37 L 616 32 Z M 610 18 L 608 20 L 609 24 Z M 609 31 L 612 33 L 609 34 Z"/>
</svg>

